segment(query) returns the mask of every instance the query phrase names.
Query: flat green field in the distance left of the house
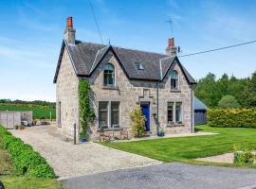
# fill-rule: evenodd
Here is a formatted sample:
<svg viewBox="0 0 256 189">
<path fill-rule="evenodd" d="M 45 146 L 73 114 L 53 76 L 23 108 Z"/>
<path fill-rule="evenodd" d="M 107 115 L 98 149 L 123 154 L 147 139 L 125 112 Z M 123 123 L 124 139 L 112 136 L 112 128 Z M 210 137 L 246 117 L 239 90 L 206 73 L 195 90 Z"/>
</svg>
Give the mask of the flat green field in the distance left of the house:
<svg viewBox="0 0 256 189">
<path fill-rule="evenodd" d="M 0 111 L 33 111 L 33 119 L 39 119 L 41 116 L 49 119 L 51 112 L 52 119 L 56 119 L 56 110 L 54 108 L 19 107 L 0 104 Z"/>
</svg>

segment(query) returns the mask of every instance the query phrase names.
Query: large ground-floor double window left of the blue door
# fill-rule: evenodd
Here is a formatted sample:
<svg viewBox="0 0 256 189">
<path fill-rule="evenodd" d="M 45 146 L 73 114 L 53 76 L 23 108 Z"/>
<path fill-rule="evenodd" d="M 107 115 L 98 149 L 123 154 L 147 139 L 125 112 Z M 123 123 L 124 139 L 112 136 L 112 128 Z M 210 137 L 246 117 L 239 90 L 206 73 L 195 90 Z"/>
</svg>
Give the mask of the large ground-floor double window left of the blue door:
<svg viewBox="0 0 256 189">
<path fill-rule="evenodd" d="M 99 128 L 119 128 L 119 104 L 117 101 L 99 102 Z"/>
</svg>

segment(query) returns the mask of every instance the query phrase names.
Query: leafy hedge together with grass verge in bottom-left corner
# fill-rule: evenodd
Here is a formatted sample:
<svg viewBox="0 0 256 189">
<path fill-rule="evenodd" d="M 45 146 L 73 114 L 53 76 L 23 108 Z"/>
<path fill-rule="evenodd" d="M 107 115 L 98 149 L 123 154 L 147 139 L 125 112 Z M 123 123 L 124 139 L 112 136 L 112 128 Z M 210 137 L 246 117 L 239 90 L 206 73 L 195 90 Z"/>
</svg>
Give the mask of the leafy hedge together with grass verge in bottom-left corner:
<svg viewBox="0 0 256 189">
<path fill-rule="evenodd" d="M 5 187 L 61 188 L 53 169 L 31 146 L 0 126 L 0 181 Z"/>
</svg>

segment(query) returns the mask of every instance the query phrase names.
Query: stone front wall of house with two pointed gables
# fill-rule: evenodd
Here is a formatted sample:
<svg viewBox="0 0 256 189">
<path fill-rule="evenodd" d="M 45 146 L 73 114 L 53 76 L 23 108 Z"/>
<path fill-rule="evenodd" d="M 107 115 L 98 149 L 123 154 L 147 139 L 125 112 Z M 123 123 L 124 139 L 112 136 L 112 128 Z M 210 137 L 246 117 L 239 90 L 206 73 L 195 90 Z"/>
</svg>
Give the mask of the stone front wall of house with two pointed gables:
<svg viewBox="0 0 256 189">
<path fill-rule="evenodd" d="M 104 89 L 102 68 L 105 63 L 110 62 L 115 66 L 117 89 Z M 170 72 L 174 69 L 179 75 L 179 91 L 171 91 Z M 159 123 L 166 133 L 192 132 L 192 89 L 183 75 L 179 65 L 175 62 L 167 77 L 162 83 L 159 83 Z M 97 130 L 98 123 L 98 105 L 99 101 L 119 101 L 120 102 L 120 127 L 130 128 L 130 112 L 140 105 L 140 102 L 150 103 L 150 130 L 156 134 L 156 122 L 153 113 L 156 113 L 156 82 L 129 80 L 124 74 L 118 60 L 109 52 L 96 68 L 92 77 L 89 78 L 92 93 L 92 106 L 96 112 L 96 121 L 91 126 L 91 138 L 99 137 Z M 182 102 L 183 123 L 178 126 L 167 125 L 167 103 Z"/>
</svg>

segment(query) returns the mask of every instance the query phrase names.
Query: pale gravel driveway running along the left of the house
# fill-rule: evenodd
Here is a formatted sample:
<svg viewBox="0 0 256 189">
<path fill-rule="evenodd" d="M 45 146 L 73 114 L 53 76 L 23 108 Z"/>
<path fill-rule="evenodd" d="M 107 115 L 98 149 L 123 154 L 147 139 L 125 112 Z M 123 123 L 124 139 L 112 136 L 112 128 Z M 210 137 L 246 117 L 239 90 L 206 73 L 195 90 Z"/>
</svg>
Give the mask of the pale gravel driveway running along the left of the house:
<svg viewBox="0 0 256 189">
<path fill-rule="evenodd" d="M 95 143 L 74 146 L 61 140 L 55 126 L 10 130 L 44 156 L 61 179 L 161 162 Z"/>
</svg>

